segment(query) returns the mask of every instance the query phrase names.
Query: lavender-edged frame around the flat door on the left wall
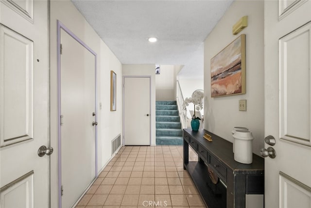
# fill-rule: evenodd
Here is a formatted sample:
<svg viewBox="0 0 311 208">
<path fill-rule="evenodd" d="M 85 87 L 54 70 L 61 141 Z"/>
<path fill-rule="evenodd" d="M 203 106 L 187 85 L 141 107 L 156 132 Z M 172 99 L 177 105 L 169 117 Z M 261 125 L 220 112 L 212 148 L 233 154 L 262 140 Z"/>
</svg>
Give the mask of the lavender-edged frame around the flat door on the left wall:
<svg viewBox="0 0 311 208">
<path fill-rule="evenodd" d="M 57 20 L 57 126 L 58 126 L 58 208 L 62 208 L 62 143 L 61 143 L 61 36 L 60 31 L 63 29 L 69 36 L 79 42 L 86 50 L 95 57 L 95 122 L 97 122 L 97 54 L 86 45 L 80 38 L 69 30 L 60 20 Z M 98 177 L 97 167 L 97 125 L 95 126 L 95 179 Z"/>
</svg>

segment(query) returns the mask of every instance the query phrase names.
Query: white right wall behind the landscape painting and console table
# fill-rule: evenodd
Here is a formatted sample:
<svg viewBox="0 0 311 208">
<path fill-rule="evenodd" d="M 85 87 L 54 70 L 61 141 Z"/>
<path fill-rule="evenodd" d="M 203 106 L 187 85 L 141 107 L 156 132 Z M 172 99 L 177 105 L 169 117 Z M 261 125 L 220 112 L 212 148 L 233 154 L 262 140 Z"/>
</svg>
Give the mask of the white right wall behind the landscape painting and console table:
<svg viewBox="0 0 311 208">
<path fill-rule="evenodd" d="M 248 16 L 248 26 L 237 36 L 232 25 Z M 246 94 L 211 98 L 210 59 L 231 41 L 246 34 Z M 236 0 L 204 42 L 205 129 L 233 141 L 235 126 L 253 132 L 253 152 L 260 155 L 264 144 L 263 1 Z M 239 100 L 247 100 L 247 111 L 239 111 Z"/>
</svg>

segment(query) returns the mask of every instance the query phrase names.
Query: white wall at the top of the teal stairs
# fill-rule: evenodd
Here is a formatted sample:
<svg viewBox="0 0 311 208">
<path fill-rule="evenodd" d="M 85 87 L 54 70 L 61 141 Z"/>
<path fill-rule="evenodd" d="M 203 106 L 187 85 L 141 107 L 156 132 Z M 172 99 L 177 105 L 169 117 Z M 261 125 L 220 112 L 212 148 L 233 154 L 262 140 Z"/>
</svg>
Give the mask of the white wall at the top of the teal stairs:
<svg viewBox="0 0 311 208">
<path fill-rule="evenodd" d="M 174 65 L 160 65 L 160 74 L 155 75 L 155 100 L 176 100 Z"/>
</svg>

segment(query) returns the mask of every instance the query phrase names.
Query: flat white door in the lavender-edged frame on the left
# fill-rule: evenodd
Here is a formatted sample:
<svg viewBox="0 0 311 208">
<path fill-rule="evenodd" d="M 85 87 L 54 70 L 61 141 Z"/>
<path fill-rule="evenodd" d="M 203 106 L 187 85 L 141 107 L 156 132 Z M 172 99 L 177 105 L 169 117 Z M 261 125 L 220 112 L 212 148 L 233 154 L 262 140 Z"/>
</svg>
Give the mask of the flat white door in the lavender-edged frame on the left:
<svg viewBox="0 0 311 208">
<path fill-rule="evenodd" d="M 95 57 L 61 29 L 62 207 L 71 207 L 96 176 Z"/>
</svg>

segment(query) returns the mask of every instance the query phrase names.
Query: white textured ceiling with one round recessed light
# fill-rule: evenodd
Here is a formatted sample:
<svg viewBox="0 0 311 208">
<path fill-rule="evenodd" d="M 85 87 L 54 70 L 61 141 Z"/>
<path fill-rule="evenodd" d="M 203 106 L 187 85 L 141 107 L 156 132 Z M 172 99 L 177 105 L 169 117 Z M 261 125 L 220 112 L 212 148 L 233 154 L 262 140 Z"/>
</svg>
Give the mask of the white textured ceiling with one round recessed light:
<svg viewBox="0 0 311 208">
<path fill-rule="evenodd" d="M 121 63 L 185 65 L 180 75 L 203 77 L 203 41 L 232 0 L 72 2 Z"/>
</svg>

